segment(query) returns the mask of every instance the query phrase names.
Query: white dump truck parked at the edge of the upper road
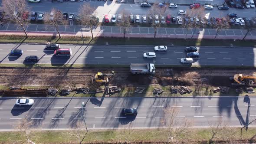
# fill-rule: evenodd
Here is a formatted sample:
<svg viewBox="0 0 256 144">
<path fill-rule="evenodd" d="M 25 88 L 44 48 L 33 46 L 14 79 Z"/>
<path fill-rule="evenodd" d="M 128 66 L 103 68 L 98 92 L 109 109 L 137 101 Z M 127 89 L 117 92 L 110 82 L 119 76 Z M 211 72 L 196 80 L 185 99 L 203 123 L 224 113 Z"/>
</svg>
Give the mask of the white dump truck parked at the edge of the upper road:
<svg viewBox="0 0 256 144">
<path fill-rule="evenodd" d="M 154 63 L 131 63 L 132 74 L 154 74 L 155 65 Z"/>
</svg>

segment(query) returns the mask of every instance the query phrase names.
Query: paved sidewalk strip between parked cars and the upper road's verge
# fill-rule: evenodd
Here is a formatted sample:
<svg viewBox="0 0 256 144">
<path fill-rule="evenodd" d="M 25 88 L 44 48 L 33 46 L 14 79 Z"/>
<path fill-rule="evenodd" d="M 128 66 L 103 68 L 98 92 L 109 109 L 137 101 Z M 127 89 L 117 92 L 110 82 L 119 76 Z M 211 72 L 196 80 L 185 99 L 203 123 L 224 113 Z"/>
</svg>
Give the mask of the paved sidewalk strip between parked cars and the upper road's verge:
<svg viewBox="0 0 256 144">
<path fill-rule="evenodd" d="M 152 27 L 131 27 L 128 28 L 125 37 L 134 38 L 153 38 L 154 28 Z M 57 35 L 56 29 L 49 25 L 35 25 L 31 24 L 26 27 L 26 30 L 30 36 L 42 35 L 42 36 L 55 36 Z M 60 26 L 59 31 L 62 36 L 91 36 L 90 29 L 86 26 Z M 82 31 L 82 32 L 81 32 Z M 187 39 L 192 37 L 194 29 L 184 28 L 164 28 L 157 29 L 156 38 L 185 38 L 187 33 Z M 18 28 L 15 24 L 5 24 L 4 27 L 0 27 L 1 35 L 24 35 L 22 29 Z M 194 39 L 214 39 L 216 34 L 215 29 L 196 29 L 193 38 Z M 216 39 L 243 39 L 246 34 L 246 29 L 225 29 L 221 30 Z M 116 26 L 97 26 L 93 29 L 93 35 L 96 37 L 123 37 L 122 29 Z M 256 39 L 256 30 L 247 34 L 246 39 Z"/>
</svg>

